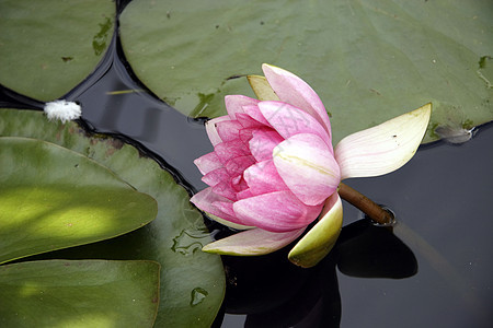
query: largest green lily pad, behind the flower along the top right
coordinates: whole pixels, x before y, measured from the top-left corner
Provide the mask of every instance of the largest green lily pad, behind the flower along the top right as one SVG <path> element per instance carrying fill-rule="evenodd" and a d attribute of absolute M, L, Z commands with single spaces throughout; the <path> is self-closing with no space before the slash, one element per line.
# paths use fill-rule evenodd
<path fill-rule="evenodd" d="M 431 141 L 493 119 L 492 16 L 490 0 L 135 0 L 121 33 L 139 79 L 186 115 L 223 115 L 226 94 L 253 95 L 234 78 L 267 62 L 319 93 L 335 141 L 432 102 Z"/>

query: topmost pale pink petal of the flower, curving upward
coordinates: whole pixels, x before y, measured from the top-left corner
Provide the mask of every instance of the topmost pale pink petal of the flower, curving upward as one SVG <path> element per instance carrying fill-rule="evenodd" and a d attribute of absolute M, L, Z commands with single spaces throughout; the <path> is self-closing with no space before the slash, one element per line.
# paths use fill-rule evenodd
<path fill-rule="evenodd" d="M 265 78 L 282 102 L 313 116 L 331 136 L 331 124 L 322 101 L 303 80 L 278 67 L 262 65 Z"/>

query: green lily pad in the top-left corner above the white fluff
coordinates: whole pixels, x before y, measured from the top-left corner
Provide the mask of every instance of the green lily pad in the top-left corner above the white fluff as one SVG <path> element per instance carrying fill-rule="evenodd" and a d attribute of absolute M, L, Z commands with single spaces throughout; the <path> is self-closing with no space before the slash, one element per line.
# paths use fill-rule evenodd
<path fill-rule="evenodd" d="M 64 96 L 100 62 L 114 23 L 112 0 L 0 1 L 0 83 L 43 102 Z"/>

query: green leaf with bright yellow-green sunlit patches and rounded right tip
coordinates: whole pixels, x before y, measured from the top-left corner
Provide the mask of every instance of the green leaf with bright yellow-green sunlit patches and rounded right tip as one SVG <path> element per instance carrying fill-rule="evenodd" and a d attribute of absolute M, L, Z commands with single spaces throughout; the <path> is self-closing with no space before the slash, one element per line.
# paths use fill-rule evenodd
<path fill-rule="evenodd" d="M 0 262 L 122 235 L 157 213 L 152 197 L 87 156 L 0 137 Z"/>

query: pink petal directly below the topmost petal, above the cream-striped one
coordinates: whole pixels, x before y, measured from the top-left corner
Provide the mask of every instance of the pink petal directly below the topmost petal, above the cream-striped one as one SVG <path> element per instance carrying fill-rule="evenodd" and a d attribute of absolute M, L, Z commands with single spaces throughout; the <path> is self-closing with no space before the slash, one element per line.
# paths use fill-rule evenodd
<path fill-rule="evenodd" d="M 332 141 L 325 129 L 309 114 L 283 102 L 261 102 L 259 108 L 270 125 L 284 139 L 298 133 L 319 136 L 332 151 Z"/>

